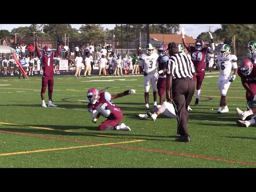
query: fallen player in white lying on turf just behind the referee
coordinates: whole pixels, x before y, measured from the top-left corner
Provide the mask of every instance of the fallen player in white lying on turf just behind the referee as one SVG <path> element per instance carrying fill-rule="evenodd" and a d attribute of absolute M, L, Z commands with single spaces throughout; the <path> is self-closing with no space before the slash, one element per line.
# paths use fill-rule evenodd
<path fill-rule="evenodd" d="M 150 112 L 147 112 L 146 114 L 135 114 L 136 117 L 138 117 L 140 120 L 146 120 L 148 116 L 152 118 L 152 120 L 156 120 L 156 117 L 160 114 L 164 114 L 165 116 L 169 118 L 176 118 L 175 109 L 173 107 L 173 104 L 170 104 L 168 102 L 163 102 L 162 105 L 158 105 L 156 108 L 152 109 Z"/>

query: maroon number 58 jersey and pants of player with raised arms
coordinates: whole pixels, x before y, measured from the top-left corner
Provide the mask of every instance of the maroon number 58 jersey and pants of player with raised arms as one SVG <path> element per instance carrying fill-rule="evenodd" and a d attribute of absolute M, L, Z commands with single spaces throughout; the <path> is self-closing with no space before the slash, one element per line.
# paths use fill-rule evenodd
<path fill-rule="evenodd" d="M 190 46 L 191 60 L 196 69 L 196 77 L 193 78 L 193 81 L 196 82 L 196 90 L 201 89 L 201 85 L 204 79 L 207 51 L 207 47 L 204 47 L 201 50 L 196 50 L 195 47 Z"/>

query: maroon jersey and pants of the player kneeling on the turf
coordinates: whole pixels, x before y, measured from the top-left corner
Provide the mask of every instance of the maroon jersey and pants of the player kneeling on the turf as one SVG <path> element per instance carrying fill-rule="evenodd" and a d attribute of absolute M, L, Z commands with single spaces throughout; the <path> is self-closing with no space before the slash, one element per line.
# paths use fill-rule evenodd
<path fill-rule="evenodd" d="M 110 101 L 111 95 L 108 92 L 101 92 L 100 99 L 95 104 L 88 104 L 88 111 L 92 112 L 95 110 L 97 106 L 101 106 L 101 108 L 110 110 L 110 116 L 107 117 L 107 120 L 102 122 L 99 126 L 99 130 L 104 130 L 106 126 L 118 126 L 123 118 L 123 113 Z"/>

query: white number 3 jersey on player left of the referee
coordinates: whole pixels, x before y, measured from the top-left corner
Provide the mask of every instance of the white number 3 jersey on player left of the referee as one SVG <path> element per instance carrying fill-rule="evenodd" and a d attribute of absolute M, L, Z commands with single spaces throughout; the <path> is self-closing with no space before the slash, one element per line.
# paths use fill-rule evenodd
<path fill-rule="evenodd" d="M 156 72 L 156 62 L 157 62 L 158 54 L 152 53 L 151 55 L 148 55 L 146 53 L 143 53 L 140 55 L 140 59 L 143 60 L 143 62 L 140 62 L 140 66 L 144 66 L 144 72 L 148 74 L 154 74 Z"/>

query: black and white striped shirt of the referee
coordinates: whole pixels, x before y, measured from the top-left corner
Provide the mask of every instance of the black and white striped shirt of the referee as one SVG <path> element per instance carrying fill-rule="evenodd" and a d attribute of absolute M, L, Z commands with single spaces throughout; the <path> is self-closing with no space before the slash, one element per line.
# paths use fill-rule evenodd
<path fill-rule="evenodd" d="M 192 60 L 186 53 L 176 53 L 170 57 L 167 66 L 167 74 L 172 74 L 172 78 L 193 78 L 192 73 L 195 73 L 195 68 Z"/>

